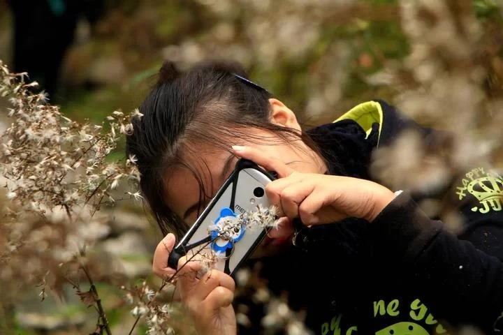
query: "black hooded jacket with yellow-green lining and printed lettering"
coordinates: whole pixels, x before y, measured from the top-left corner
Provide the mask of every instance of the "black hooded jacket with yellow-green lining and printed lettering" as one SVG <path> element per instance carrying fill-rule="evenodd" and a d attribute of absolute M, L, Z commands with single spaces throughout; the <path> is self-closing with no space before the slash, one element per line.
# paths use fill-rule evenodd
<path fill-rule="evenodd" d="M 430 144 L 441 137 L 382 101 L 359 105 L 310 135 L 330 174 L 370 179 L 372 151 L 410 128 Z M 404 190 L 372 223 L 347 219 L 303 229 L 298 247 L 264 260 L 261 275 L 273 292 L 288 294 L 294 310 L 307 311 L 314 334 L 453 334 L 460 325 L 503 331 L 502 190 L 503 179 L 484 167 L 435 194 Z M 415 200 L 427 196 L 458 202 L 465 218 L 458 236 L 418 207 Z M 248 312 L 253 327 L 240 334 L 265 333 L 258 327 L 262 306 L 255 307 Z"/>

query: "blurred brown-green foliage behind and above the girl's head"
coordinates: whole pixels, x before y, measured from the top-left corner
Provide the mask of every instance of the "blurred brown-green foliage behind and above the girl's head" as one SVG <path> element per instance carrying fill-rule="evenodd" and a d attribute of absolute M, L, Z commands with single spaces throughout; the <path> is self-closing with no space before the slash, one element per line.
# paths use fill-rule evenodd
<path fill-rule="evenodd" d="M 78 21 L 51 101 L 76 119 L 100 121 L 107 111 L 138 106 L 164 59 L 206 57 L 241 61 L 305 121 L 333 119 L 370 98 L 393 101 L 397 87 L 376 87 L 365 76 L 409 53 L 398 0 L 289 2 L 103 0 L 96 22 Z M 461 2 L 472 3 L 486 31 L 501 30 L 497 0 Z M 13 17 L 3 1 L 0 15 L 0 58 L 9 64 Z M 43 58 L 42 50 L 33 57 Z M 313 98 L 323 80 L 337 84 L 324 105 Z"/>

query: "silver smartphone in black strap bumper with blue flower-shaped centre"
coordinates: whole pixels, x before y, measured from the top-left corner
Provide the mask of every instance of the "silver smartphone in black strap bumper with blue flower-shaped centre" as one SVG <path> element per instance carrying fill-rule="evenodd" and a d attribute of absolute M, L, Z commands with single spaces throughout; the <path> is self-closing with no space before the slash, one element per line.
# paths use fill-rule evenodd
<path fill-rule="evenodd" d="M 208 228 L 223 222 L 221 219 L 233 220 L 245 211 L 255 211 L 258 204 L 268 208 L 270 204 L 265 193 L 257 197 L 254 189 L 265 188 L 274 179 L 273 172 L 266 172 L 255 163 L 240 159 L 231 176 L 170 253 L 169 267 L 176 269 L 178 260 L 183 255 L 190 257 L 203 248 L 213 248 L 219 253 L 214 268 L 233 276 L 261 243 L 267 230 L 242 226 L 239 231 L 233 232 L 231 240 L 223 240 L 217 239 L 217 230 Z"/>

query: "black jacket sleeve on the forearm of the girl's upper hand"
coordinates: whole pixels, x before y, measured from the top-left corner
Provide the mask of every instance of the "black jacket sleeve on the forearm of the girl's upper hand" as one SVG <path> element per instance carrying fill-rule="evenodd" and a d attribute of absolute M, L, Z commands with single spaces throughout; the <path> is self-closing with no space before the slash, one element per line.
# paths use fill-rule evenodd
<path fill-rule="evenodd" d="M 407 287 L 451 325 L 502 329 L 503 263 L 432 221 L 402 193 L 370 224 L 374 267 L 406 274 Z M 410 280 L 409 280 L 410 278 Z"/>

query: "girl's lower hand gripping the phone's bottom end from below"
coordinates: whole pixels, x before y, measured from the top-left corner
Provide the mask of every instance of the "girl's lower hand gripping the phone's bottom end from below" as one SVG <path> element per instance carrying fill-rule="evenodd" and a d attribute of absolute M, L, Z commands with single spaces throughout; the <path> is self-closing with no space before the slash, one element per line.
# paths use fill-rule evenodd
<path fill-rule="evenodd" d="M 157 245 L 152 268 L 161 278 L 175 274 L 175 269 L 166 267 L 174 245 L 173 234 L 166 235 Z M 213 269 L 198 279 L 196 274 L 201 269 L 201 263 L 195 258 L 187 262 L 187 256 L 180 258 L 178 269 L 176 299 L 182 301 L 191 314 L 198 334 L 235 335 L 236 319 L 231 305 L 235 290 L 233 278 Z"/>

